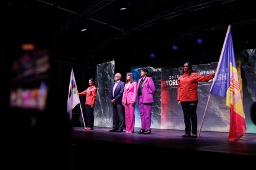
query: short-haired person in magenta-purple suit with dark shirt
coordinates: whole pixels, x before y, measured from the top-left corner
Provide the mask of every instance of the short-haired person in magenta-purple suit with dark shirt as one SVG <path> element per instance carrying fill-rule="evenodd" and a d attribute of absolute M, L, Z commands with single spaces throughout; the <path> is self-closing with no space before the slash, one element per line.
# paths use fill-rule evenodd
<path fill-rule="evenodd" d="M 142 121 L 142 129 L 139 134 L 151 134 L 151 105 L 154 102 L 156 87 L 152 78 L 148 77 L 147 68 L 140 70 L 138 85 L 138 103 L 140 110 L 140 119 Z"/>

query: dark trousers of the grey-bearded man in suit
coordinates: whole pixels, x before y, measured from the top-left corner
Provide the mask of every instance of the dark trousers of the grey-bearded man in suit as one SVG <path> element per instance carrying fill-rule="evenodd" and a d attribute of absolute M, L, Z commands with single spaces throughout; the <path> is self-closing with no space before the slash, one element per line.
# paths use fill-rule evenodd
<path fill-rule="evenodd" d="M 113 129 L 124 128 L 124 113 L 122 105 L 113 105 Z"/>

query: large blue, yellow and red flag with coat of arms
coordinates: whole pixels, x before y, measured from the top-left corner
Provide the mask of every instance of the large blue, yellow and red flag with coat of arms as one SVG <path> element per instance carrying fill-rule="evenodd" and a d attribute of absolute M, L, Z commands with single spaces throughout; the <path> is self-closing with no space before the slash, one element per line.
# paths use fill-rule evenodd
<path fill-rule="evenodd" d="M 237 141 L 245 135 L 246 124 L 230 28 L 229 25 L 210 93 L 226 97 L 230 108 L 228 140 Z"/>

